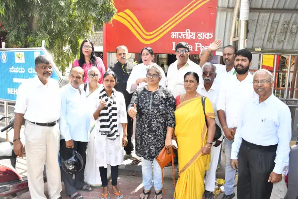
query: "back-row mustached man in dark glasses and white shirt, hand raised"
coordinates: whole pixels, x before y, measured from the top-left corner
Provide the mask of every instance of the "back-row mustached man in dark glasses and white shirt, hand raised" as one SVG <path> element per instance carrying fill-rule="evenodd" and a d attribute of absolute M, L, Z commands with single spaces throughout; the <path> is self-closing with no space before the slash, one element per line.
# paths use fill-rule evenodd
<path fill-rule="evenodd" d="M 220 48 L 222 41 L 216 40 L 208 47 L 208 51 L 212 52 Z M 167 88 L 172 92 L 176 98 L 179 95 L 185 94 L 184 89 L 184 75 L 187 72 L 195 72 L 199 76 L 200 84 L 203 84 L 202 69 L 199 65 L 189 59 L 190 51 L 189 45 L 185 42 L 180 42 L 175 47 L 177 60 L 172 63 L 167 71 L 166 82 Z M 208 59 L 208 54 L 203 56 L 204 63 Z"/>

